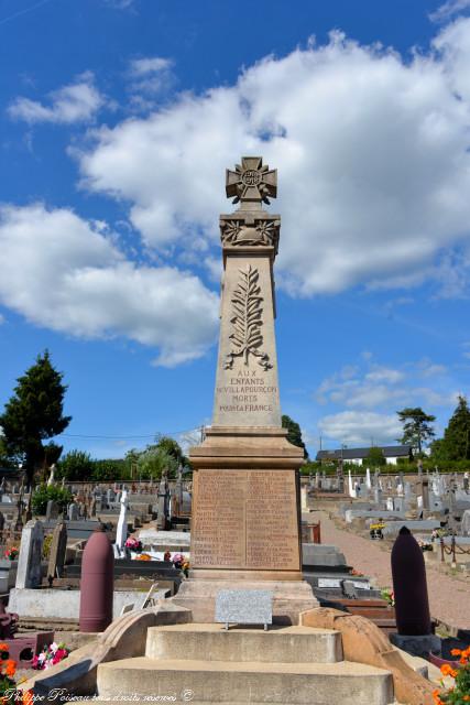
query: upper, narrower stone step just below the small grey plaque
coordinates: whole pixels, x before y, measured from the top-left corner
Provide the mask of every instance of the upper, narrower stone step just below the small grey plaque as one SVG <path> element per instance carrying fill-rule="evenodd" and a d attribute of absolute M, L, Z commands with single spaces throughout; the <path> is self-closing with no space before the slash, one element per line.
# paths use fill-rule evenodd
<path fill-rule="evenodd" d="M 341 634 L 311 627 L 229 629 L 222 625 L 174 625 L 147 630 L 151 659 L 270 663 L 335 663 L 342 660 Z"/>

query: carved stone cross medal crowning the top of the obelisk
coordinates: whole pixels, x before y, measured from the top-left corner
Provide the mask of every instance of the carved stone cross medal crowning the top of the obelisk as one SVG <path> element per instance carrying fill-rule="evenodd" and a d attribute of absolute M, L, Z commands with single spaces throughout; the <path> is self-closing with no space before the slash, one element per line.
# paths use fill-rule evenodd
<path fill-rule="evenodd" d="M 241 209 L 260 208 L 277 195 L 277 170 L 263 165 L 261 156 L 242 156 L 234 172 L 226 171 L 226 194 L 232 203 L 241 203 Z"/>

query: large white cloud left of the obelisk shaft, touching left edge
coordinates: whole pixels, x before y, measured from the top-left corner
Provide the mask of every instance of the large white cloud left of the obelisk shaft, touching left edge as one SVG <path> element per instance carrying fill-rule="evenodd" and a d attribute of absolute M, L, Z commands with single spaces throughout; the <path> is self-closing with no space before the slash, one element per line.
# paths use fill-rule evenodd
<path fill-rule="evenodd" d="M 3 206 L 0 301 L 54 330 L 159 347 L 159 365 L 204 355 L 217 330 L 216 294 L 175 268 L 136 267 L 105 230 L 67 209 Z"/>

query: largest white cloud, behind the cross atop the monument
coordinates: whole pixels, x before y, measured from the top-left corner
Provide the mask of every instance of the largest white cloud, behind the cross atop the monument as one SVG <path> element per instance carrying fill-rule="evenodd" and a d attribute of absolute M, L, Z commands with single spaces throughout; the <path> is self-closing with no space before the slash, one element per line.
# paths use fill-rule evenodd
<path fill-rule="evenodd" d="M 463 19 L 411 62 L 336 32 L 234 86 L 96 130 L 76 153 L 83 183 L 129 199 L 154 248 L 190 247 L 195 232 L 215 243 L 225 169 L 262 154 L 280 174 L 282 286 L 416 285 L 470 236 L 468 47 Z"/>

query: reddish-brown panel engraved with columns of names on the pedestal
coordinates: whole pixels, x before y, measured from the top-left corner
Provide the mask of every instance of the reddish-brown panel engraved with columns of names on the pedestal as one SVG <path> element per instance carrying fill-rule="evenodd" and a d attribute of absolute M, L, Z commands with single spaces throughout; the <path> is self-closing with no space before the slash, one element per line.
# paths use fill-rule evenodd
<path fill-rule="evenodd" d="M 192 564 L 211 568 L 299 570 L 295 474 L 196 473 Z"/>

